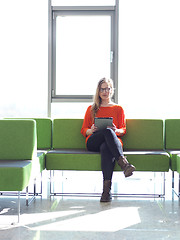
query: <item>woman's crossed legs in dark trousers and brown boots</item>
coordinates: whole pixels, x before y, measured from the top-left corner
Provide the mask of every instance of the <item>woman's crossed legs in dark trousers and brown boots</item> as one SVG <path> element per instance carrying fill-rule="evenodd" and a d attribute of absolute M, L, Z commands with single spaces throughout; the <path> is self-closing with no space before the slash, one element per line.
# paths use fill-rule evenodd
<path fill-rule="evenodd" d="M 115 132 L 110 129 L 104 129 L 94 133 L 87 141 L 87 149 L 101 153 L 101 168 L 103 173 L 103 193 L 101 202 L 110 202 L 111 197 L 111 179 L 115 166 L 115 159 L 124 171 L 125 177 L 132 175 L 135 167 L 128 163 L 123 155 L 122 145 Z"/>

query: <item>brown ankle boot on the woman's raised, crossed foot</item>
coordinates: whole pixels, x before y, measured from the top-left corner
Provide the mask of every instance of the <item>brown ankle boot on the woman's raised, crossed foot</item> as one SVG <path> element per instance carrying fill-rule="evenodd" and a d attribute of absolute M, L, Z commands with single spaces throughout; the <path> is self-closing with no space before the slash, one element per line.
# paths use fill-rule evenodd
<path fill-rule="evenodd" d="M 117 162 L 121 169 L 124 171 L 125 177 L 130 177 L 136 170 L 136 168 L 128 162 L 125 156 L 120 156 Z"/>

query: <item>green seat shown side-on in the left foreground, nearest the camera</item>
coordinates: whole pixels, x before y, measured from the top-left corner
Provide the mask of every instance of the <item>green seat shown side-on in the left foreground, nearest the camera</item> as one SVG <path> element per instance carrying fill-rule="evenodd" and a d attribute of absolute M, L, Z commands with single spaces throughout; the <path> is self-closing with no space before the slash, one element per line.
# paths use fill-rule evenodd
<path fill-rule="evenodd" d="M 36 122 L 33 120 L 0 120 L 0 191 L 20 192 L 29 183 L 36 165 Z M 37 166 L 37 165 L 36 165 Z"/>

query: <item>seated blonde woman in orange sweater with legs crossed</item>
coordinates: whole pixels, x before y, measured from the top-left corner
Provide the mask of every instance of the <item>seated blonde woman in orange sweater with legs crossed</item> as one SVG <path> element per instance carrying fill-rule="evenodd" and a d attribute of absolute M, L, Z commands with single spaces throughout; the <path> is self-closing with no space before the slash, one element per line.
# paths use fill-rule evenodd
<path fill-rule="evenodd" d="M 126 133 L 124 110 L 111 101 L 113 96 L 113 82 L 102 78 L 97 86 L 94 103 L 87 108 L 81 133 L 86 137 L 89 151 L 100 152 L 103 173 L 103 193 L 101 202 L 111 201 L 111 180 L 115 161 L 124 171 L 125 177 L 133 174 L 135 167 L 131 165 L 123 154 L 121 137 Z M 112 117 L 113 126 L 98 130 L 94 125 L 95 117 Z"/>

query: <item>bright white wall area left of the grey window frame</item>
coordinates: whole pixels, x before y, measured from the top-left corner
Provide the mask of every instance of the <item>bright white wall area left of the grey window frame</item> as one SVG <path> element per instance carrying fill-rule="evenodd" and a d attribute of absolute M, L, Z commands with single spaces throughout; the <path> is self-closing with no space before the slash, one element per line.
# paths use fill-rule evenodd
<path fill-rule="evenodd" d="M 47 116 L 48 1 L 0 2 L 0 117 Z"/>

